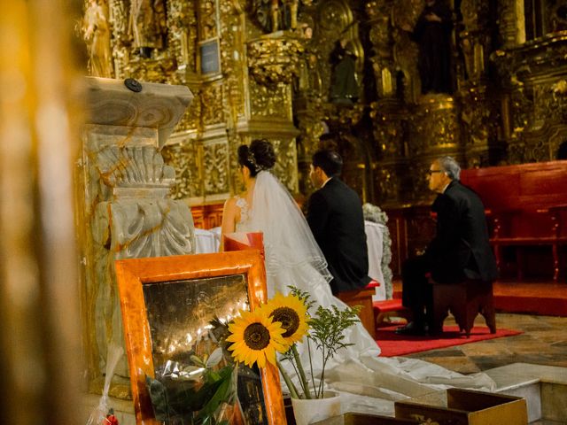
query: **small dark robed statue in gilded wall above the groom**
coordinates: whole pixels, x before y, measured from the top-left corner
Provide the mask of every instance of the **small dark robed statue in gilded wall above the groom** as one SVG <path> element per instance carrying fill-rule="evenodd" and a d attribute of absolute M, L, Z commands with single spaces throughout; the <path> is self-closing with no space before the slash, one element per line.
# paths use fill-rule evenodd
<path fill-rule="evenodd" d="M 353 104 L 358 100 L 356 52 L 353 42 L 341 38 L 330 52 L 330 96 L 333 104 Z"/>

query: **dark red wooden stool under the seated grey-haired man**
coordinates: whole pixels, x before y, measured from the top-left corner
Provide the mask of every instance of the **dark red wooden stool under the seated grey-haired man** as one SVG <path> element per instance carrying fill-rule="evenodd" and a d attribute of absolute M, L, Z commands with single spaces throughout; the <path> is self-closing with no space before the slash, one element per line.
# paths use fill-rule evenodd
<path fill-rule="evenodd" d="M 496 333 L 496 315 L 493 301 L 493 282 L 466 280 L 461 283 L 440 284 L 431 282 L 433 289 L 433 326 L 443 329 L 448 312 L 454 315 L 459 329 L 470 336 L 477 314 L 485 317 L 491 334 Z"/>

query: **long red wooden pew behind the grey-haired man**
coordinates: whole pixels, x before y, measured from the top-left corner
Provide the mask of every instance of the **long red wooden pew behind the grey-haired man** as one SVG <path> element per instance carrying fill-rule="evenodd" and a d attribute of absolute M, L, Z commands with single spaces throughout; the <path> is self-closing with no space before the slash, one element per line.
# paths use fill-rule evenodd
<path fill-rule="evenodd" d="M 556 281 L 560 247 L 567 244 L 567 161 L 462 170 L 461 182 L 483 200 L 499 267 L 502 247 L 515 246 L 517 278 L 522 280 L 524 248 L 548 245 Z"/>

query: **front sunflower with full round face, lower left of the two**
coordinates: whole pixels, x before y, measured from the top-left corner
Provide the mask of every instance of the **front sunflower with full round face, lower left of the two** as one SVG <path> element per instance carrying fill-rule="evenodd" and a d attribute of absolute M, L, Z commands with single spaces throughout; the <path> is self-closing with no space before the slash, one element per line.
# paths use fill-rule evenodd
<path fill-rule="evenodd" d="M 254 312 L 241 312 L 234 322 L 229 324 L 230 336 L 227 338 L 232 357 L 252 367 L 266 366 L 266 360 L 276 364 L 276 351 L 285 351 L 286 344 L 282 334 L 282 324 L 272 321 L 262 309 Z"/>

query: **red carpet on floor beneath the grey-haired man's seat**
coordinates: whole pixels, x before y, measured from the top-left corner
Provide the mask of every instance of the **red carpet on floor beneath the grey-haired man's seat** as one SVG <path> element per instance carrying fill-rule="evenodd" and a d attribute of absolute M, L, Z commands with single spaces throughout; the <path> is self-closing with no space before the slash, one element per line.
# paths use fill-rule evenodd
<path fill-rule="evenodd" d="M 426 352 L 437 348 L 446 348 L 454 345 L 476 343 L 486 339 L 500 338 L 502 336 L 519 335 L 522 332 L 509 329 L 498 329 L 491 334 L 488 328 L 472 328 L 470 337 L 459 332 L 457 326 L 446 326 L 440 336 L 401 336 L 394 333 L 399 325 L 377 328 L 376 339 L 382 349 L 382 356 L 403 356 L 412 352 Z"/>

